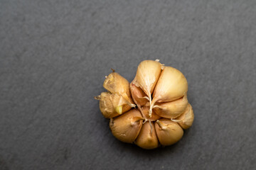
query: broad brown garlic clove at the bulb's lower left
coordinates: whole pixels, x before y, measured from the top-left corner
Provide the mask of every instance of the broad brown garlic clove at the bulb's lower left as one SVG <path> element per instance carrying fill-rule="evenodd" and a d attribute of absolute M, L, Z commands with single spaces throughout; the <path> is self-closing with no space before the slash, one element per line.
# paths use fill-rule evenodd
<path fill-rule="evenodd" d="M 122 142 L 132 143 L 142 128 L 142 114 L 136 109 L 110 120 L 110 129 L 114 137 Z"/>

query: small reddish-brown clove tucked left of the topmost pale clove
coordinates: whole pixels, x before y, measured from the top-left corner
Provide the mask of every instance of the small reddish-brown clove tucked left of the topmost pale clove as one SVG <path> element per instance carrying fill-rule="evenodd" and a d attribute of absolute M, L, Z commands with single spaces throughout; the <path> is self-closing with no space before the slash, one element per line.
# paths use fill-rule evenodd
<path fill-rule="evenodd" d="M 149 102 L 149 100 L 145 98 L 146 94 L 144 93 L 144 91 L 142 91 L 142 89 L 136 86 L 134 84 L 134 81 L 132 81 L 132 83 L 130 84 L 129 89 L 132 94 L 132 99 L 134 103 L 137 104 L 137 106 L 144 106 L 146 105 L 146 103 Z"/>

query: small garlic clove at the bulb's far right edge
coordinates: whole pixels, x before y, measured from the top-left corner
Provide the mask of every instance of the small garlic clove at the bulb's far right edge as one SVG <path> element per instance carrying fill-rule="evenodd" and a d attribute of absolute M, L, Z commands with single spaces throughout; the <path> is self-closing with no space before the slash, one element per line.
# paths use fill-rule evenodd
<path fill-rule="evenodd" d="M 194 114 L 193 114 L 193 108 L 191 104 L 188 103 L 188 107 L 186 108 L 186 111 L 180 115 L 176 120 L 178 120 L 178 124 L 181 125 L 181 128 L 188 129 L 193 124 Z"/>

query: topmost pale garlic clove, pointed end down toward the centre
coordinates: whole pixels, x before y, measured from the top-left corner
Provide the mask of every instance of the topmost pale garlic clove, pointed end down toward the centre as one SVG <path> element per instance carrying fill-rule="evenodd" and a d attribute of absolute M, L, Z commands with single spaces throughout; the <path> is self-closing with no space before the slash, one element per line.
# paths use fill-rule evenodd
<path fill-rule="evenodd" d="M 139 86 L 151 98 L 156 82 L 161 74 L 161 63 L 153 60 L 144 60 L 138 66 L 134 84 Z"/>

